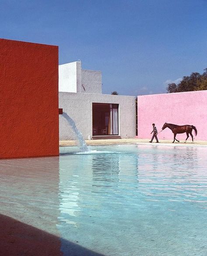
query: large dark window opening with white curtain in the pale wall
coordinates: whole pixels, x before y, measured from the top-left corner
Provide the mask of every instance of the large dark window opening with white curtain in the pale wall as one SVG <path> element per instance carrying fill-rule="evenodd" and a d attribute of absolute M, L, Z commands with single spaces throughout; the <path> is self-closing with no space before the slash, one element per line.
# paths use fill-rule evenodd
<path fill-rule="evenodd" d="M 118 104 L 92 103 L 93 136 L 118 135 Z"/>

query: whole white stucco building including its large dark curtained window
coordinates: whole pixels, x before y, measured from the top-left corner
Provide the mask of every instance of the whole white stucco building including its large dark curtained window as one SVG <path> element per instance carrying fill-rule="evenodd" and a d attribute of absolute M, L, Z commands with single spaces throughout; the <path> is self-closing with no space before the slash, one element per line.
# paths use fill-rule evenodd
<path fill-rule="evenodd" d="M 84 139 L 135 137 L 135 99 L 102 94 L 101 71 L 82 70 L 81 62 L 59 65 L 59 108 L 73 119 Z M 76 139 L 61 115 L 59 139 Z"/>

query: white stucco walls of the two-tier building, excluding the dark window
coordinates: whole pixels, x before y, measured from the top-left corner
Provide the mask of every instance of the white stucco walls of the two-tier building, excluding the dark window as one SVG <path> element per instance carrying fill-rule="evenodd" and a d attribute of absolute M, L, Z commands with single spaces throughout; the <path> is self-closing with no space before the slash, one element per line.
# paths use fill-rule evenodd
<path fill-rule="evenodd" d="M 80 61 L 59 65 L 59 108 L 73 119 L 86 140 L 93 135 L 93 103 L 118 104 L 118 136 L 135 137 L 135 98 L 135 96 L 103 95 L 101 71 L 82 70 Z M 100 116 L 99 112 L 96 115 Z M 117 134 L 117 130 L 114 134 Z M 72 128 L 61 115 L 59 139 L 76 139 Z"/>

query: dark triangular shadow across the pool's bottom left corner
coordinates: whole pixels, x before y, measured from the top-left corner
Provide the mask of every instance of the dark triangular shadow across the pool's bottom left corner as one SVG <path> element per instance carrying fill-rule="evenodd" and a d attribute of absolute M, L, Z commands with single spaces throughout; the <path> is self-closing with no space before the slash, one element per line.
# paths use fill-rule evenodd
<path fill-rule="evenodd" d="M 0 256 L 103 256 L 0 214 Z M 61 252 L 61 243 L 68 252 Z"/>

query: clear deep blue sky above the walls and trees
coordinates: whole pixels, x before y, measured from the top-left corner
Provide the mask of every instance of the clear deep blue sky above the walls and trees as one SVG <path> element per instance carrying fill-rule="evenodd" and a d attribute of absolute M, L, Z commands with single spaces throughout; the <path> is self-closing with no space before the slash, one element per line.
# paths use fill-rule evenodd
<path fill-rule="evenodd" d="M 0 38 L 58 45 L 103 93 L 165 93 L 207 68 L 207 0 L 1 0 Z"/>

